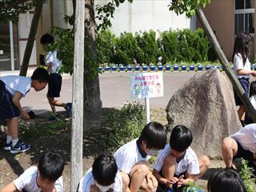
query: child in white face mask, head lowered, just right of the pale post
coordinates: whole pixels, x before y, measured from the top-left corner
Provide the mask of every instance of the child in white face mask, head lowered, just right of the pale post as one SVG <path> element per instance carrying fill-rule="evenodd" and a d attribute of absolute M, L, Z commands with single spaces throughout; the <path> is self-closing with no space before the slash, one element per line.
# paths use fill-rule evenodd
<path fill-rule="evenodd" d="M 81 179 L 78 192 L 122 191 L 122 176 L 114 157 L 101 154 Z"/>

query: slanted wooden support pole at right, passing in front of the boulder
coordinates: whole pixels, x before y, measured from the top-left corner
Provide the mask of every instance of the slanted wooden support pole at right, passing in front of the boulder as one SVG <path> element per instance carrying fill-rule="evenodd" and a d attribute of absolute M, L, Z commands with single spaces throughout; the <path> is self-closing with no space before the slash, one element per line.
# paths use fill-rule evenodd
<path fill-rule="evenodd" d="M 202 25 L 202 28 L 206 31 L 206 34 L 210 38 L 210 42 L 214 48 L 215 53 L 218 55 L 218 59 L 222 62 L 223 70 L 225 70 L 228 78 L 230 78 L 230 82 L 234 86 L 234 89 L 237 91 L 239 98 L 242 100 L 243 105 L 246 107 L 246 110 L 250 114 L 250 118 L 252 118 L 253 122 L 256 122 L 256 111 L 254 110 L 254 106 L 251 105 L 250 100 L 247 98 L 240 82 L 238 82 L 238 78 L 234 75 L 234 71 L 231 69 L 230 63 L 227 61 L 221 46 L 219 46 L 218 40 L 215 37 L 213 30 L 210 28 L 210 25 L 202 10 L 198 10 L 197 17 Z"/>

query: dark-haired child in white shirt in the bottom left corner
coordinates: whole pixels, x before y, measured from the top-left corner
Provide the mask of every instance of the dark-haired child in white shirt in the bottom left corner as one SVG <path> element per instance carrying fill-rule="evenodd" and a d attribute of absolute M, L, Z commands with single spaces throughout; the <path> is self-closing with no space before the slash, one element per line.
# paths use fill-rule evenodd
<path fill-rule="evenodd" d="M 38 166 L 30 166 L 1 192 L 62 192 L 64 161 L 59 154 L 42 154 Z"/>

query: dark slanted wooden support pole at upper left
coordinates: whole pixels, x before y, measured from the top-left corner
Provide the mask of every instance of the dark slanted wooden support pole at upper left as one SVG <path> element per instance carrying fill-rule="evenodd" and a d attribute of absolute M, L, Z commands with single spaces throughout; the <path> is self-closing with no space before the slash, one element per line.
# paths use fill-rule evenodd
<path fill-rule="evenodd" d="M 26 76 L 26 72 L 29 67 L 30 57 L 33 50 L 33 46 L 34 46 L 34 38 L 38 30 L 38 22 L 40 19 L 40 15 L 42 14 L 42 5 L 43 5 L 43 1 L 38 1 L 38 4 L 34 8 L 34 16 L 30 26 L 30 34 L 26 42 L 26 49 L 25 49 L 24 57 L 22 61 L 22 68 L 19 73 L 19 75 L 21 76 Z"/>

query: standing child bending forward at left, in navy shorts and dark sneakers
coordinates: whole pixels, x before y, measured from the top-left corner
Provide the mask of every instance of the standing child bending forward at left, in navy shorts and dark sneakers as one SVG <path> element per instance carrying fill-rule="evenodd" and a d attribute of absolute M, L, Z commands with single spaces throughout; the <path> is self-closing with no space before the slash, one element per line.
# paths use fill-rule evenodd
<path fill-rule="evenodd" d="M 25 97 L 30 88 L 43 90 L 49 82 L 47 70 L 37 68 L 32 77 L 9 75 L 0 78 L 0 120 L 7 120 L 7 137 L 4 150 L 12 154 L 25 152 L 30 145 L 18 140 L 18 118 L 29 119 L 29 114 L 22 110 L 20 100 Z"/>

